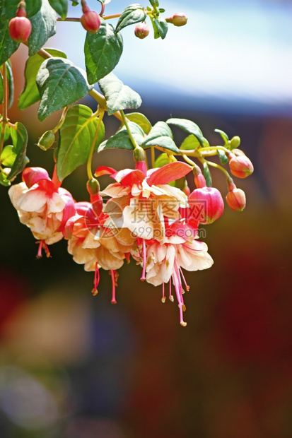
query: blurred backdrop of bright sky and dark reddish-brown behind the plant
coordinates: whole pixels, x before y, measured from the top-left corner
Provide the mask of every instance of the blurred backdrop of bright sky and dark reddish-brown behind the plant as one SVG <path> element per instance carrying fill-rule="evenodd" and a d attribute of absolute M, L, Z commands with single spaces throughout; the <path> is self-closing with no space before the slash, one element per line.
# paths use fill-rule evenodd
<path fill-rule="evenodd" d="M 97 1 L 88 4 L 99 11 Z M 112 0 L 105 11 L 128 4 Z M 0 187 L 1 438 L 292 436 L 292 1 L 160 6 L 166 16 L 186 13 L 187 25 L 170 26 L 165 40 L 138 40 L 133 26 L 122 30 L 115 73 L 140 93 L 139 110 L 152 124 L 192 119 L 211 144 L 220 143 L 214 129 L 240 136 L 255 165 L 252 176 L 235 182 L 247 207 L 235 213 L 226 206 L 205 227 L 214 266 L 186 273 L 184 329 L 177 305 L 163 305 L 160 288 L 141 283 L 133 262 L 119 272 L 112 306 L 108 273 L 93 297 L 93 273 L 74 264 L 66 242 L 37 260 L 30 230 Z M 69 16 L 80 15 L 80 6 L 71 8 Z M 78 23 L 57 26 L 47 47 L 84 67 L 86 32 Z M 25 47 L 13 55 L 10 118 L 28 129 L 30 165 L 52 172 L 52 151 L 35 144 L 59 114 L 40 124 L 37 105 L 17 109 L 26 57 Z M 117 122 L 105 124 L 110 136 Z M 180 143 L 184 136 L 173 131 Z M 132 167 L 132 154 L 103 152 L 99 164 Z M 224 197 L 223 175 L 212 176 Z M 81 201 L 88 199 L 85 184 L 80 167 L 64 187 Z"/>

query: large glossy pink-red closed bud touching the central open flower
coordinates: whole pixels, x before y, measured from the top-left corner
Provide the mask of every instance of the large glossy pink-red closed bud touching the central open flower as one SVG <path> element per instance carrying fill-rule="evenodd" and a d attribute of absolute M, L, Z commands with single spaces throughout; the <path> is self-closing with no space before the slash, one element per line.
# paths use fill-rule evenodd
<path fill-rule="evenodd" d="M 224 210 L 221 193 L 214 187 L 195 189 L 188 200 L 190 218 L 205 225 L 220 218 Z"/>

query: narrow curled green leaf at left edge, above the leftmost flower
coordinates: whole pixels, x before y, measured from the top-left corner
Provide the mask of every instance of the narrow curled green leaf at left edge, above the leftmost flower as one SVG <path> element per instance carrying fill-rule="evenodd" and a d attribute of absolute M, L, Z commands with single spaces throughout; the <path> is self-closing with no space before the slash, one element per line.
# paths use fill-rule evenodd
<path fill-rule="evenodd" d="M 18 173 L 21 173 L 29 161 L 26 156 L 26 146 L 28 145 L 28 133 L 22 123 L 16 122 L 15 127 L 11 128 L 11 138 L 14 150 L 16 150 L 16 160 L 13 163 L 11 172 L 7 179 L 11 180 Z"/>

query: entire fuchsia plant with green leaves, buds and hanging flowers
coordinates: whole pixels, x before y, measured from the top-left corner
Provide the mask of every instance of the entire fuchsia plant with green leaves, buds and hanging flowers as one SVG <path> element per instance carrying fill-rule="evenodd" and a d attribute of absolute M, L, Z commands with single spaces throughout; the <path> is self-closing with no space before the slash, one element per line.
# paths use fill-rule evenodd
<path fill-rule="evenodd" d="M 141 40 L 152 28 L 154 39 L 164 40 L 171 25 L 187 24 L 187 16 L 177 12 L 165 18 L 158 0 L 147 0 L 148 6 L 130 4 L 110 15 L 105 14 L 110 0 L 99 1 L 100 11 L 92 11 L 86 0 L 72 1 L 72 6 L 79 8 L 79 18 L 67 17 L 66 0 L 12 3 L 4 0 L 0 4 L 1 25 L 8 30 L 0 41 L 0 184 L 9 187 L 22 173 L 22 182 L 10 187 L 8 194 L 21 223 L 37 239 L 37 256 L 42 256 L 43 250 L 49 256 L 49 245 L 66 239 L 74 261 L 94 273 L 93 295 L 98 292 L 100 269 L 109 271 L 112 303 L 116 302 L 117 271 L 125 261 L 134 259 L 141 266 L 141 280 L 161 286 L 163 302 L 166 295 L 171 301 L 175 296 L 180 324 L 185 326 L 183 295 L 189 286 L 183 270 L 198 271 L 213 264 L 206 243 L 198 239 L 198 228 L 220 218 L 224 209 L 221 193 L 212 187 L 210 167 L 225 174 L 228 206 L 243 211 L 245 193 L 223 166 L 228 164 L 231 174 L 245 178 L 253 171 L 252 163 L 238 149 L 238 136 L 229 139 L 216 130 L 223 145 L 210 146 L 191 120 L 171 118 L 152 126 L 140 112 L 125 114 L 124 110 L 141 106 L 141 97 L 112 71 L 122 55 L 124 28 L 134 25 L 134 35 Z M 110 21 L 115 18 L 114 26 Z M 66 20 L 79 22 L 79 30 L 86 32 L 86 71 L 69 61 L 64 52 L 43 48 L 57 31 L 56 21 L 62 26 Z M 40 23 L 45 23 L 41 37 Z M 29 56 L 18 108 L 39 102 L 40 122 L 62 110 L 57 126 L 45 131 L 37 143 L 42 150 L 54 148 L 52 179 L 45 169 L 25 168 L 28 132 L 8 117 L 13 102 L 10 57 L 21 43 L 28 46 Z M 95 84 L 100 91 L 95 90 Z M 95 111 L 78 103 L 83 97 L 93 99 Z M 120 122 L 117 132 L 107 139 L 106 113 Z M 187 133 L 179 146 L 172 125 Z M 132 150 L 134 168 L 99 166 L 93 174 L 93 154 L 117 148 Z M 88 200 L 76 201 L 62 182 L 85 163 Z M 100 191 L 98 179 L 105 174 L 114 182 Z"/>

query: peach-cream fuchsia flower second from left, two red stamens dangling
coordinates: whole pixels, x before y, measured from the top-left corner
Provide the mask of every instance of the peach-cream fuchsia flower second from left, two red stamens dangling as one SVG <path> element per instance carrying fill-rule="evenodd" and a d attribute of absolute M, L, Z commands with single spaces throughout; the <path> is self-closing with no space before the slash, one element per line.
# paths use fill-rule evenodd
<path fill-rule="evenodd" d="M 66 223 L 64 235 L 69 239 L 68 251 L 78 264 L 84 264 L 85 271 L 95 271 L 93 293 L 98 293 L 99 268 L 110 271 L 112 276 L 112 302 L 115 302 L 117 272 L 127 254 L 130 253 L 134 238 L 124 228 L 115 232 L 103 226 L 107 215 L 102 212 L 103 202 L 78 202 L 76 215 Z M 129 258 L 129 257 L 128 257 Z"/>

